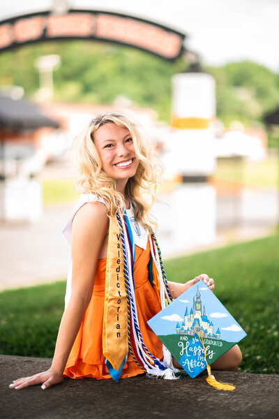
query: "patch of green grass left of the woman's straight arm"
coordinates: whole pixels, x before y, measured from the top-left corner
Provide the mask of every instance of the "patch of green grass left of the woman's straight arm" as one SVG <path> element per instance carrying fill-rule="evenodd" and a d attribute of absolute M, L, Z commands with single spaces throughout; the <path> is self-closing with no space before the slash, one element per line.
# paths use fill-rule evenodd
<path fill-rule="evenodd" d="M 0 293 L 0 353 L 51 358 L 66 282 Z"/>

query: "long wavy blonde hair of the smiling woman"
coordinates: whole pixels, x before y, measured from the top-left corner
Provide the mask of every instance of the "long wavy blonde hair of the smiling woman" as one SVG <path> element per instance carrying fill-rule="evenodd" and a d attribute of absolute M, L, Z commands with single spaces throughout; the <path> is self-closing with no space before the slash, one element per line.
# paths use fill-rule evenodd
<path fill-rule="evenodd" d="M 77 168 L 76 189 L 103 198 L 108 207 L 108 216 L 115 216 L 125 207 L 124 196 L 116 191 L 116 180 L 102 169 L 100 157 L 94 145 L 94 133 L 105 124 L 113 123 L 128 128 L 133 138 L 135 156 L 139 166 L 135 176 L 130 177 L 125 188 L 125 198 L 134 206 L 135 218 L 148 230 L 156 227 L 150 214 L 156 200 L 155 194 L 163 173 L 162 165 L 153 153 L 153 147 L 140 124 L 120 112 L 105 112 L 89 122 L 73 142 L 73 161 Z"/>

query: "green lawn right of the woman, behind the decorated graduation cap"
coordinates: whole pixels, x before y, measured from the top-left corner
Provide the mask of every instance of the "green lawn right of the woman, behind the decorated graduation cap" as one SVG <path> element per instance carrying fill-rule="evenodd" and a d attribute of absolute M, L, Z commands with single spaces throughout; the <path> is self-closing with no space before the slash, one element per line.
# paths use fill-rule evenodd
<path fill-rule="evenodd" d="M 216 295 L 248 336 L 240 342 L 241 370 L 279 373 L 279 235 L 168 260 L 170 281 L 208 273 Z"/>

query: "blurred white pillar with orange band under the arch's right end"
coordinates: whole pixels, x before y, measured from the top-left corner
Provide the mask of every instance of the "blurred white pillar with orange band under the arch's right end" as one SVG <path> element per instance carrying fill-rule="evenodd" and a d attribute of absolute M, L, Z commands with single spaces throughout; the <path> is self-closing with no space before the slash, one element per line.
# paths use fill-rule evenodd
<path fill-rule="evenodd" d="M 216 191 L 209 183 L 216 166 L 215 80 L 192 55 L 186 71 L 172 77 L 174 131 L 169 145 L 183 181 L 172 195 L 173 237 L 183 242 L 184 249 L 211 243 L 216 237 Z"/>

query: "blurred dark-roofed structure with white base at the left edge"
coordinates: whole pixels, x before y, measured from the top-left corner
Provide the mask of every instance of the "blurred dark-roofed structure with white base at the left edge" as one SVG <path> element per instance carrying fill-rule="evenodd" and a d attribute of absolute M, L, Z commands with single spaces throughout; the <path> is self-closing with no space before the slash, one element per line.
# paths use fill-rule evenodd
<path fill-rule="evenodd" d="M 30 221 L 42 212 L 36 175 L 47 159 L 41 139 L 59 128 L 36 105 L 11 94 L 0 95 L 1 221 Z"/>

